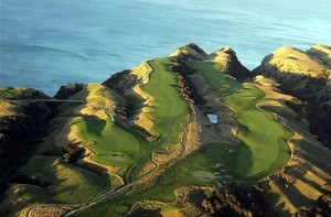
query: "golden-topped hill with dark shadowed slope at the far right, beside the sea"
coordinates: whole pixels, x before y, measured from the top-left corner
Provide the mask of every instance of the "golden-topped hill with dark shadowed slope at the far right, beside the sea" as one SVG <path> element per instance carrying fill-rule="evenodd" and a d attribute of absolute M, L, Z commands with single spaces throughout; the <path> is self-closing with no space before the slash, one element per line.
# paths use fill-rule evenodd
<path fill-rule="evenodd" d="M 307 52 L 282 46 L 254 69 L 255 75 L 275 78 L 280 89 L 307 101 L 311 131 L 331 145 L 331 47 L 316 45 Z"/>

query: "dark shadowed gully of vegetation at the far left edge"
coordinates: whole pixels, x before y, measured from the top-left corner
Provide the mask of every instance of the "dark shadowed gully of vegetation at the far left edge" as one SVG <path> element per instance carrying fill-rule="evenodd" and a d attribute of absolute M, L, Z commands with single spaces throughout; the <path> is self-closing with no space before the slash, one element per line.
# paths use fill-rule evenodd
<path fill-rule="evenodd" d="M 10 174 L 21 165 L 33 145 L 47 132 L 56 109 L 44 102 L 24 102 L 22 112 L 0 119 L 0 192 L 7 188 Z"/>

